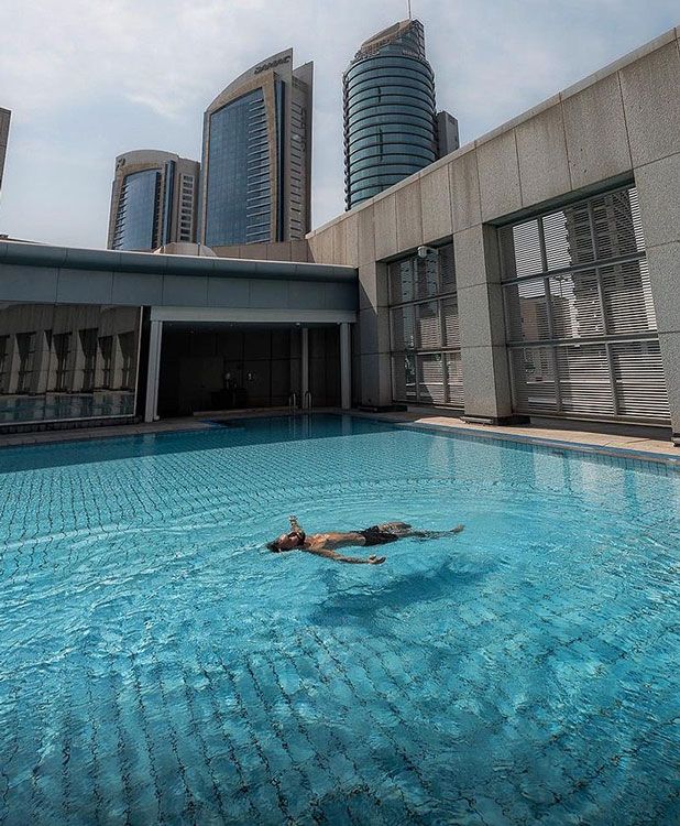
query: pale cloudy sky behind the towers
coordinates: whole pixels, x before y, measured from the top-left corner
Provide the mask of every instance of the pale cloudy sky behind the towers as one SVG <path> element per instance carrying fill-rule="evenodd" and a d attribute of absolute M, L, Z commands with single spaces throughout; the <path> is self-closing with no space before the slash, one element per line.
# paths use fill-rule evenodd
<path fill-rule="evenodd" d="M 412 0 L 461 143 L 680 24 L 677 0 Z M 200 159 L 202 112 L 287 47 L 315 62 L 312 227 L 343 206 L 342 72 L 407 0 L 0 0 L 0 233 L 105 247 L 116 155 Z"/>

